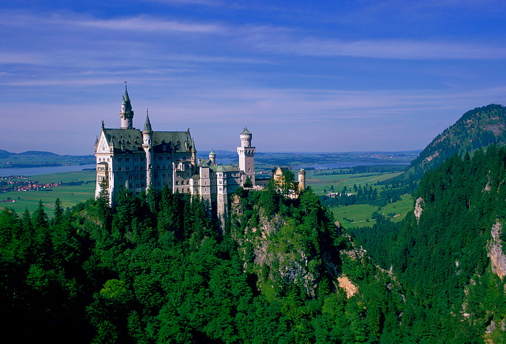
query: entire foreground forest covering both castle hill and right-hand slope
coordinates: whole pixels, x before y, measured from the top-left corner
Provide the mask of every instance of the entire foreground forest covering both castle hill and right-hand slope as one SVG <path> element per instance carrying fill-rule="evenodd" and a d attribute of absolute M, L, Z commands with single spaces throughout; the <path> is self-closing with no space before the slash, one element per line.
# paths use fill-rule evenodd
<path fill-rule="evenodd" d="M 67 210 L 56 200 L 51 219 L 41 202 L 7 208 L 3 339 L 501 342 L 505 180 L 506 148 L 453 156 L 426 173 L 402 222 L 377 214 L 352 231 L 367 251 L 310 189 L 290 198 L 274 182 L 238 189 L 224 226 L 168 188 L 123 190 L 114 212 L 105 192 Z"/>

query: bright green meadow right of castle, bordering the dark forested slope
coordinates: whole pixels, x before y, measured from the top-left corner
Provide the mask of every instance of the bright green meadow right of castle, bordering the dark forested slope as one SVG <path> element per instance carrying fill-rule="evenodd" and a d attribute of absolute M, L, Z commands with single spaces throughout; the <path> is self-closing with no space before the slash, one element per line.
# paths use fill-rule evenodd
<path fill-rule="evenodd" d="M 334 214 L 334 218 L 344 228 L 372 226 L 376 223 L 371 219 L 373 212 L 382 214 L 384 217 L 390 218 L 393 222 L 398 222 L 406 217 L 406 214 L 413 209 L 413 198 L 410 195 L 401 196 L 401 200 L 387 204 L 385 207 L 373 207 L 368 204 L 354 204 L 346 207 L 332 207 L 330 210 Z M 394 214 L 393 217 L 388 214 Z M 344 218 L 353 220 L 348 222 Z M 369 219 L 369 221 L 367 221 Z"/>

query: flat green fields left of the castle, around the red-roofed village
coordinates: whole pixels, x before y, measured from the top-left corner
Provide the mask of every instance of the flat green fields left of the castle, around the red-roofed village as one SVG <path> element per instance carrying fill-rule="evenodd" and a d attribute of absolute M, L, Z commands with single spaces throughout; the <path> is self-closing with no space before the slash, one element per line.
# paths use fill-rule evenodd
<path fill-rule="evenodd" d="M 80 180 L 95 181 L 96 172 L 76 171 L 40 174 L 33 176 L 31 179 L 38 180 L 39 183 L 57 183 L 60 181 L 66 183 Z M 87 201 L 95 195 L 95 182 L 75 186 L 63 185 L 51 189 L 52 191 L 10 191 L 0 193 L 0 200 L 10 197 L 15 201 L 14 203 L 0 203 L 0 209 L 4 209 L 5 207 L 13 208 L 16 213 L 21 214 L 27 208 L 32 213 L 37 208 L 39 200 L 42 200 L 46 213 L 51 217 L 53 216 L 56 198 L 60 199 L 63 208 L 72 207 L 79 202 Z"/>

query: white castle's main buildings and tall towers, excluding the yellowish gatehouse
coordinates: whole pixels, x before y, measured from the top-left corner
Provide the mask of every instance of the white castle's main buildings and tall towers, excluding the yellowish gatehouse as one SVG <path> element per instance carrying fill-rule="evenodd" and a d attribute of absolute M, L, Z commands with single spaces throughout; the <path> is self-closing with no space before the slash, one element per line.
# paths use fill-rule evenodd
<path fill-rule="evenodd" d="M 255 186 L 255 147 L 252 134 L 244 128 L 237 147 L 239 166 L 218 165 L 214 151 L 209 159 L 196 160 L 195 143 L 187 131 L 153 131 L 146 113 L 144 130 L 133 127 L 134 112 L 125 86 L 121 111 L 121 127 L 105 128 L 95 142 L 97 186 L 95 197 L 106 180 L 109 201 L 115 205 L 120 188 L 134 194 L 145 192 L 152 185 L 160 190 L 165 185 L 176 193 L 198 194 L 206 201 L 209 214 L 223 221 L 228 208 L 228 195 L 243 186 L 249 177 Z"/>

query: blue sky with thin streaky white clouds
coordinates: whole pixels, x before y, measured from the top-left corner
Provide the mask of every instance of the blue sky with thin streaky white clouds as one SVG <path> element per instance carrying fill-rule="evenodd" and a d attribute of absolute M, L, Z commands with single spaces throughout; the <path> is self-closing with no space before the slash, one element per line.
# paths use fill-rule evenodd
<path fill-rule="evenodd" d="M 506 105 L 502 1 L 0 2 L 0 149 L 93 154 L 124 80 L 198 151 L 423 149 Z"/>

